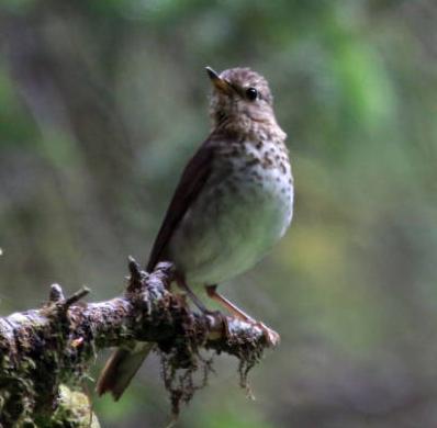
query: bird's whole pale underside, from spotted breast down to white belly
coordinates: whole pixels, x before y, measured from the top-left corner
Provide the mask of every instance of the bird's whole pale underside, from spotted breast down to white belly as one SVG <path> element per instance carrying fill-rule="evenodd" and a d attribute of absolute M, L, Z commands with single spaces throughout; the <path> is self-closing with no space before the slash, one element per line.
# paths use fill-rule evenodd
<path fill-rule="evenodd" d="M 292 218 L 285 146 L 262 139 L 217 144 L 212 173 L 171 243 L 177 266 L 193 283 L 218 283 L 246 271 Z"/>

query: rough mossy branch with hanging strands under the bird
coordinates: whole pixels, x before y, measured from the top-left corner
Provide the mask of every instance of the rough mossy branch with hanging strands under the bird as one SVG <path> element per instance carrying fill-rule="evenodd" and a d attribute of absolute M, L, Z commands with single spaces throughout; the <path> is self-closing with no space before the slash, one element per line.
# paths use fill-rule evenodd
<path fill-rule="evenodd" d="M 41 426 L 38 420 L 55 426 L 60 385 L 80 385 L 99 350 L 136 340 L 157 343 L 173 414 L 199 387 L 192 374 L 211 370 L 202 348 L 237 357 L 245 385 L 269 345 L 262 329 L 218 312 L 191 311 L 184 295 L 170 291 L 168 262 L 150 274 L 133 259 L 128 268 L 126 291 L 113 300 L 83 304 L 88 289 L 65 297 L 54 284 L 43 307 L 0 318 L 0 426 Z"/>

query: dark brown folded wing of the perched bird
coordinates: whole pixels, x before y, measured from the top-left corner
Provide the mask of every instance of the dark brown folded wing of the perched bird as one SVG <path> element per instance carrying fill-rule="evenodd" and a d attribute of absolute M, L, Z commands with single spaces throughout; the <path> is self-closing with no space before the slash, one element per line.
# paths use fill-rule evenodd
<path fill-rule="evenodd" d="M 180 178 L 173 198 L 167 209 L 163 225 L 152 248 L 146 267 L 147 272 L 152 272 L 155 266 L 165 257 L 165 251 L 176 227 L 187 213 L 187 210 L 195 201 L 200 190 L 210 177 L 214 150 L 208 143 L 209 140 L 203 143 L 199 148 L 188 162 Z"/>

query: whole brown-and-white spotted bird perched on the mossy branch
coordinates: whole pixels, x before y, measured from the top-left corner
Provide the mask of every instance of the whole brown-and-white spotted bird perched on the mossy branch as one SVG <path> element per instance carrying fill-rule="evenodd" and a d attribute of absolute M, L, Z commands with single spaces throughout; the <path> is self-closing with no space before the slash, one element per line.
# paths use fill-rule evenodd
<path fill-rule="evenodd" d="M 187 164 L 152 247 L 146 271 L 175 264 L 177 285 L 206 312 L 202 290 L 234 316 L 262 328 L 270 345 L 279 335 L 217 292 L 260 261 L 285 234 L 293 215 L 294 187 L 287 134 L 273 112 L 268 81 L 250 68 L 216 72 L 212 83 L 212 128 Z M 108 360 L 97 392 L 117 401 L 153 343 L 119 348 Z"/>

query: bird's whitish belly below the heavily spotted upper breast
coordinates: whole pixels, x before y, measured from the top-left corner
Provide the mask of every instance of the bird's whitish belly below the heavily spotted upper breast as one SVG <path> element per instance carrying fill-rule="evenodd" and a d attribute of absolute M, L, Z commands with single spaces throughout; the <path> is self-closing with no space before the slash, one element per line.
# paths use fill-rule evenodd
<path fill-rule="evenodd" d="M 246 271 L 285 233 L 291 176 L 276 169 L 256 176 L 234 173 L 211 185 L 182 219 L 170 254 L 189 283 L 216 284 Z"/>

